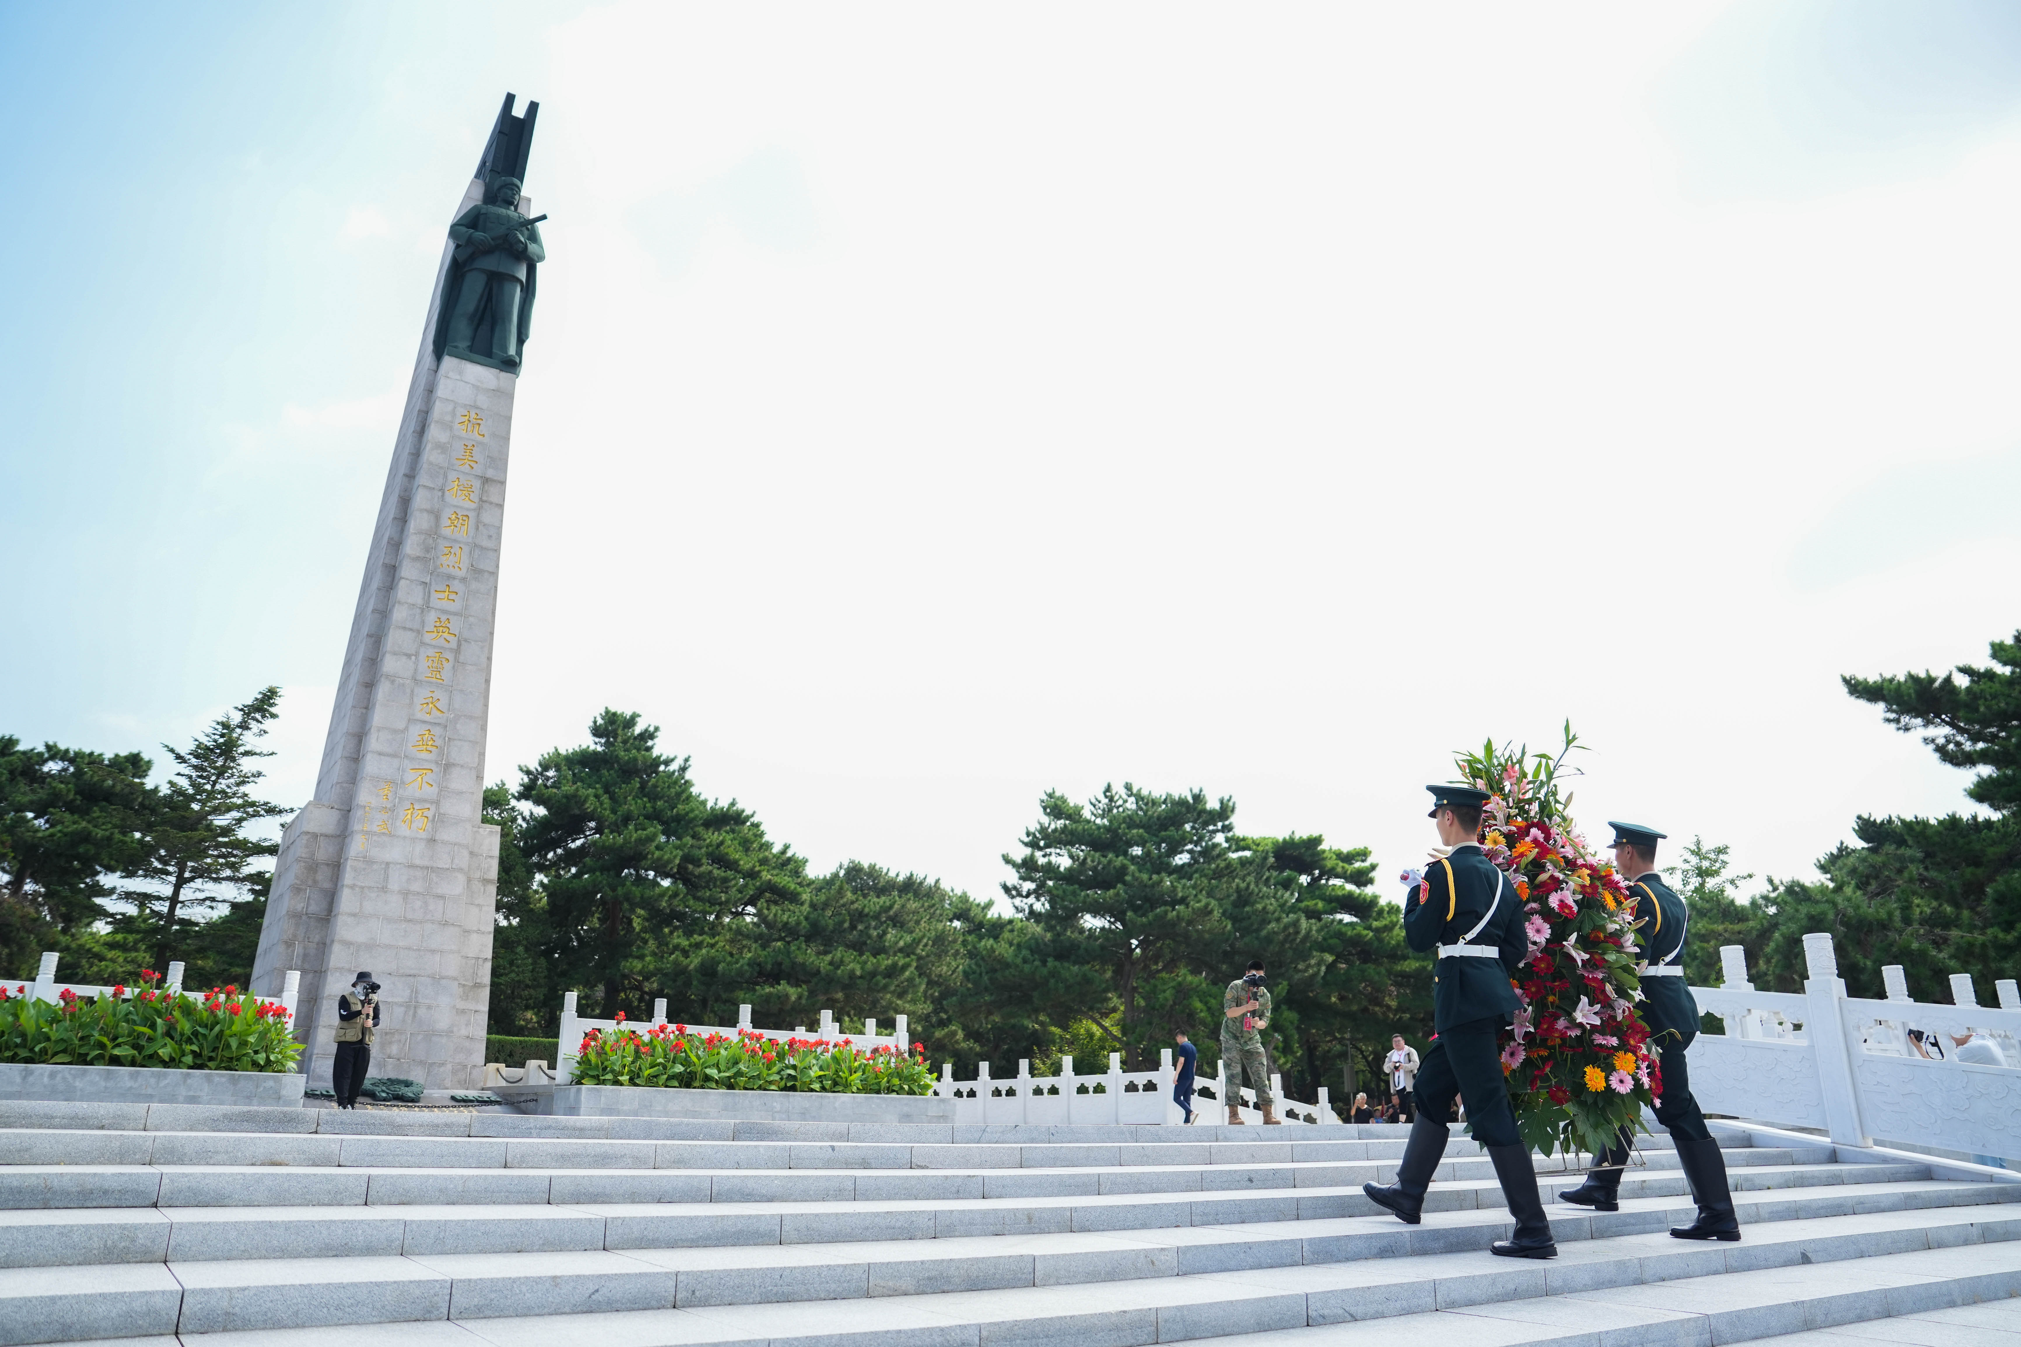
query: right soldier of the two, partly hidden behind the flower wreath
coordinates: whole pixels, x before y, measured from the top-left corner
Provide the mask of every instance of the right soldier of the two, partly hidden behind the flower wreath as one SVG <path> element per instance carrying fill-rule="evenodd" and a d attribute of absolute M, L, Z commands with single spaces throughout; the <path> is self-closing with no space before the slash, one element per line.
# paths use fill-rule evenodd
<path fill-rule="evenodd" d="M 1649 1026 L 1649 1046 L 1657 1054 L 1657 1070 L 1663 1078 L 1663 1095 L 1655 1101 L 1655 1121 L 1669 1129 L 1677 1143 L 1677 1163 L 1692 1185 L 1692 1200 L 1698 1202 L 1698 1220 L 1690 1226 L 1673 1228 L 1679 1240 L 1738 1240 L 1740 1220 L 1734 1216 L 1734 1198 L 1726 1187 L 1726 1157 L 1720 1143 L 1706 1127 L 1706 1113 L 1692 1099 L 1692 1076 L 1686 1070 L 1683 1050 L 1698 1038 L 1698 1002 L 1683 981 L 1683 939 L 1692 925 L 1692 913 L 1683 899 L 1671 893 L 1663 876 L 1655 872 L 1655 844 L 1665 834 L 1641 824 L 1617 824 L 1615 830 L 1615 870 L 1627 880 L 1629 899 L 1635 903 L 1635 947 L 1643 957 L 1643 1022 Z M 1615 1149 L 1595 1159 L 1586 1181 L 1570 1191 L 1558 1194 L 1560 1202 L 1574 1202 L 1597 1212 L 1621 1210 L 1621 1169 L 1629 1163 L 1629 1143 L 1633 1133 L 1623 1127 Z"/>

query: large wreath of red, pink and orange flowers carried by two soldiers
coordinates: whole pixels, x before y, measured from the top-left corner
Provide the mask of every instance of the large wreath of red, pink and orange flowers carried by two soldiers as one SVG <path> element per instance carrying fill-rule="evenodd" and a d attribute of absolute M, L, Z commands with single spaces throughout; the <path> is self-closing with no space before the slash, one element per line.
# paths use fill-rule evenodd
<path fill-rule="evenodd" d="M 1572 826 L 1558 794 L 1564 749 L 1530 753 L 1485 743 L 1457 757 L 1469 786 L 1491 792 L 1479 842 L 1516 887 L 1530 953 L 1512 977 L 1522 1010 L 1502 1036 L 1502 1072 L 1524 1143 L 1599 1153 L 1663 1093 L 1641 1000 L 1633 903 L 1613 866 Z"/>

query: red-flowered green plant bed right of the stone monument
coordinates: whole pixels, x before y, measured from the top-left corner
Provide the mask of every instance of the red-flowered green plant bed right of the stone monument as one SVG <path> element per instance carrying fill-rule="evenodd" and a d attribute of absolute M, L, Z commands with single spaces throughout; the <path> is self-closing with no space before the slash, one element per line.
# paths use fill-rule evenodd
<path fill-rule="evenodd" d="M 847 1040 L 766 1038 L 750 1030 L 691 1034 L 685 1024 L 590 1030 L 576 1056 L 576 1084 L 683 1091 L 794 1091 L 802 1095 L 930 1095 L 926 1044 L 911 1054 Z"/>

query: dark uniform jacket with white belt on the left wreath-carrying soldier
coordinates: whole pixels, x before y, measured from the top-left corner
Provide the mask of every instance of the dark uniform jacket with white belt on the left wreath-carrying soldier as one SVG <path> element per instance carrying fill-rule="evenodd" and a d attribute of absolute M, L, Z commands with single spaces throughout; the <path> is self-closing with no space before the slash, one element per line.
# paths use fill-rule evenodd
<path fill-rule="evenodd" d="M 1441 1034 L 1469 1020 L 1516 1018 L 1520 1002 L 1510 975 L 1530 953 L 1530 935 L 1524 931 L 1516 889 L 1502 883 L 1502 897 L 1496 899 L 1500 878 L 1502 872 L 1479 846 L 1455 846 L 1445 862 L 1433 860 L 1425 866 L 1425 883 L 1405 901 L 1403 935 L 1419 953 L 1435 945 L 1457 945 L 1459 937 L 1471 931 L 1489 907 L 1494 909 L 1487 925 L 1469 943 L 1487 945 L 1498 957 L 1439 959 L 1433 971 L 1431 1014 Z"/>

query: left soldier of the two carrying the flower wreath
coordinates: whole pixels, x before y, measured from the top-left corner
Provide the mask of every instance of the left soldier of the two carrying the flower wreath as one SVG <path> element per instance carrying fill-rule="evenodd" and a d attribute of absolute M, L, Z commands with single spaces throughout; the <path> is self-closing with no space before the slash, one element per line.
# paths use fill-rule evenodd
<path fill-rule="evenodd" d="M 1508 876 L 1479 848 L 1485 790 L 1427 786 L 1439 824 L 1439 840 L 1449 848 L 1425 866 L 1425 880 L 1405 901 L 1403 933 L 1411 949 L 1439 951 L 1433 979 L 1433 1020 L 1439 1028 L 1417 1068 L 1417 1121 L 1405 1143 L 1397 1181 L 1362 1183 L 1376 1206 L 1415 1226 L 1425 1210 L 1425 1189 L 1445 1155 L 1447 1119 L 1453 1097 L 1467 1105 L 1473 1139 L 1487 1149 L 1516 1218 L 1516 1238 L 1496 1240 L 1491 1252 L 1504 1258 L 1556 1258 L 1558 1244 L 1544 1218 L 1530 1147 L 1516 1133 L 1508 1082 L 1502 1076 L 1502 1048 L 1496 1036 L 1516 1018 L 1516 990 L 1510 973 L 1530 951 L 1522 901 Z"/>

